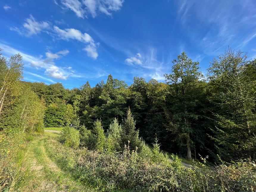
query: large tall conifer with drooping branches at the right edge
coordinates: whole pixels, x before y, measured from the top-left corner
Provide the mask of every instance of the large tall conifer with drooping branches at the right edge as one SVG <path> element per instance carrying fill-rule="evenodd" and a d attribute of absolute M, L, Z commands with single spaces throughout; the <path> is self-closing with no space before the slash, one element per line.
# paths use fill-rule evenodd
<path fill-rule="evenodd" d="M 216 106 L 212 138 L 224 160 L 238 159 L 242 154 L 255 158 L 256 81 L 248 64 L 246 53 L 229 48 L 213 59 L 208 69 L 212 92 L 209 99 Z"/>

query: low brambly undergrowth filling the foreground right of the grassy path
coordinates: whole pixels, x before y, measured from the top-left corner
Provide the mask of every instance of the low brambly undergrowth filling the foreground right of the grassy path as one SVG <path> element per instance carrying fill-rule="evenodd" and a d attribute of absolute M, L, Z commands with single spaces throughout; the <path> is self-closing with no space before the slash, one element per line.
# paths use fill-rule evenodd
<path fill-rule="evenodd" d="M 54 146 L 54 147 L 53 147 Z M 96 191 L 255 191 L 255 163 L 246 160 L 215 167 L 185 168 L 177 156 L 171 163 L 154 162 L 152 152 L 124 146 L 122 153 L 102 153 L 86 148 L 72 150 L 49 141 L 51 154 L 61 166 Z M 72 156 L 72 157 L 71 157 Z M 203 167 L 203 168 L 202 168 Z"/>

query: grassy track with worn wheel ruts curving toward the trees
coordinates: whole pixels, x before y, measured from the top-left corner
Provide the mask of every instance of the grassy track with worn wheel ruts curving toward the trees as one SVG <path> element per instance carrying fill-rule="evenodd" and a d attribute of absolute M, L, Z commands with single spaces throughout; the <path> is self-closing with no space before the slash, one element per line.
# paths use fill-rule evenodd
<path fill-rule="evenodd" d="M 31 191 L 88 191 L 49 158 L 45 150 L 46 139 L 56 136 L 57 133 L 46 132 L 45 136 L 36 137 L 29 145 L 27 159 L 34 174 L 31 181 L 34 189 Z"/>

